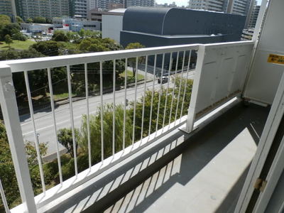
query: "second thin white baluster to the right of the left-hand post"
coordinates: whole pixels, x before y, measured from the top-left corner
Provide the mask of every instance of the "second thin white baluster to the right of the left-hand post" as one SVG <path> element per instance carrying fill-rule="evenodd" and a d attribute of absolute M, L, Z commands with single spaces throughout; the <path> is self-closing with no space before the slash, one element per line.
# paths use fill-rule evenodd
<path fill-rule="evenodd" d="M 54 127 L 54 134 L 55 134 L 55 144 L 56 144 L 56 154 L 58 156 L 58 171 L 59 171 L 59 179 L 60 184 L 62 185 L 62 169 L 61 169 L 61 160 L 60 160 L 60 152 L 59 152 L 59 146 L 58 146 L 58 130 L 56 126 L 56 120 L 55 120 L 55 107 L 54 107 L 54 98 L 53 98 L 53 82 L 51 80 L 51 72 L 50 68 L 48 68 L 48 87 L 49 87 L 49 93 L 50 93 L 50 104 L 51 104 L 51 111 L 53 115 L 53 127 Z"/>

